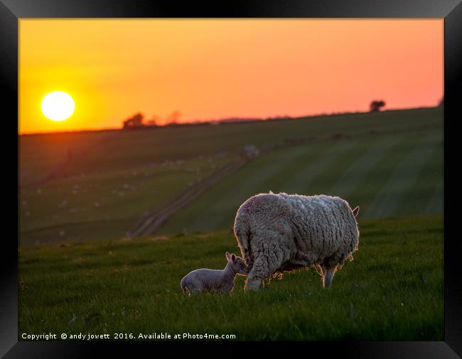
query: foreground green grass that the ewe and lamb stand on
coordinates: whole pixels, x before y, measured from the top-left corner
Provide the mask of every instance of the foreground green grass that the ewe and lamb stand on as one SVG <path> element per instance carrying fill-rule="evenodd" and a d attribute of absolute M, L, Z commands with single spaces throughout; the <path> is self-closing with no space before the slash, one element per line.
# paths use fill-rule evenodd
<path fill-rule="evenodd" d="M 330 289 L 311 269 L 245 293 L 187 298 L 179 282 L 238 253 L 232 233 L 19 249 L 18 333 L 209 333 L 237 340 L 444 340 L 442 216 L 360 220 Z M 59 336 L 59 335 L 58 335 Z M 20 339 L 21 340 L 21 339 Z"/>

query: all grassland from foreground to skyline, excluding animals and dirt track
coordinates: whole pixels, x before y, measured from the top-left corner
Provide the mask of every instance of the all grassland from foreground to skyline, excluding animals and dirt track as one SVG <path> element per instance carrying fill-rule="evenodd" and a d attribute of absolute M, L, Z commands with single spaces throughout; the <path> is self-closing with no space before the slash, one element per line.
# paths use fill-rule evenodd
<path fill-rule="evenodd" d="M 441 341 L 443 141 L 441 108 L 20 136 L 19 334 Z M 245 145 L 261 154 L 155 235 L 126 238 L 140 216 L 207 183 Z M 237 208 L 269 190 L 360 205 L 355 260 L 330 289 L 311 269 L 259 292 L 245 293 L 237 277 L 228 296 L 185 297 L 181 277 L 239 253 Z"/>

